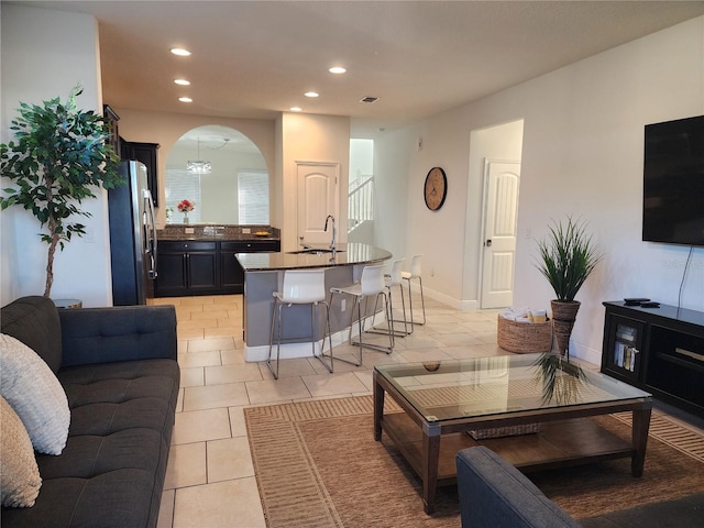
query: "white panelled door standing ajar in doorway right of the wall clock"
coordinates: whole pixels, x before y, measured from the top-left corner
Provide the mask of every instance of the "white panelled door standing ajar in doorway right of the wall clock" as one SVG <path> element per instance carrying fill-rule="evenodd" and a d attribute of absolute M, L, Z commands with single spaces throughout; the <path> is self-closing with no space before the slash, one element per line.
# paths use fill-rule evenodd
<path fill-rule="evenodd" d="M 514 300 L 520 162 L 485 160 L 484 184 L 481 307 L 501 308 Z"/>

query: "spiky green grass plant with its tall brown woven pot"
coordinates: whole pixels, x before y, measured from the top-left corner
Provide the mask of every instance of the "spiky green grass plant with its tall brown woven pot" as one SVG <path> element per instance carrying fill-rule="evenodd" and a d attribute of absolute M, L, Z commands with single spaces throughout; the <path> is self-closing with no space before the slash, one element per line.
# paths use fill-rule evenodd
<path fill-rule="evenodd" d="M 572 217 L 568 217 L 566 224 L 553 221 L 549 235 L 538 241 L 538 250 L 536 266 L 557 296 L 550 305 L 558 351 L 561 355 L 569 354 L 570 336 L 581 306 L 574 297 L 602 256 L 585 232 L 585 223 Z"/>

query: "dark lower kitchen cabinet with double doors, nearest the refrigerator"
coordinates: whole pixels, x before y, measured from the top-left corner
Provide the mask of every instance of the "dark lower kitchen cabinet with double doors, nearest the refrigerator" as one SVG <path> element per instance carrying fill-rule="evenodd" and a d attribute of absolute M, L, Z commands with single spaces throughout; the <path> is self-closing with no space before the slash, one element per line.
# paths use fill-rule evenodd
<path fill-rule="evenodd" d="M 216 242 L 162 241 L 157 251 L 157 297 L 218 293 Z"/>

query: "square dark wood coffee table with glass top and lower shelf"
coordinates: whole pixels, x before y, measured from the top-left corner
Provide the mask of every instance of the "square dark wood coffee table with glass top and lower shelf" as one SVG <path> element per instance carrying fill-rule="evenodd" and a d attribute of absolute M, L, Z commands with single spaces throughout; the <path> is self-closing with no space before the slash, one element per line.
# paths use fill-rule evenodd
<path fill-rule="evenodd" d="M 374 438 L 382 431 L 422 480 L 426 513 L 457 482 L 455 454 L 486 446 L 522 472 L 631 458 L 642 474 L 652 397 L 552 354 L 502 355 L 374 369 Z M 385 394 L 403 413 L 384 413 Z M 630 441 L 591 416 L 632 413 Z"/>

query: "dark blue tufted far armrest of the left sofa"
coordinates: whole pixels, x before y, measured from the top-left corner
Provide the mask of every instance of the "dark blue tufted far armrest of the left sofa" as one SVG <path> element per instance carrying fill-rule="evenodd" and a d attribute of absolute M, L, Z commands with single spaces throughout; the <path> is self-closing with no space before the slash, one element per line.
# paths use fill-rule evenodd
<path fill-rule="evenodd" d="M 62 367 L 116 361 L 176 360 L 173 306 L 59 310 Z"/>

